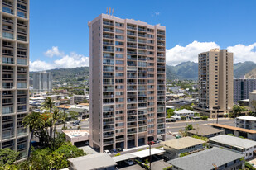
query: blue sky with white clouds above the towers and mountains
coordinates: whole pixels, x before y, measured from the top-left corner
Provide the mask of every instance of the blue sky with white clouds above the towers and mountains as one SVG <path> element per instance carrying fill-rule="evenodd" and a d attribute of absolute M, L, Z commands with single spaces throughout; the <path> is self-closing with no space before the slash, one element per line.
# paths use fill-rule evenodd
<path fill-rule="evenodd" d="M 196 61 L 197 52 L 211 47 L 233 50 L 234 62 L 244 55 L 256 62 L 255 0 L 31 0 L 30 5 L 31 70 L 87 65 L 87 23 L 106 7 L 114 8 L 116 17 L 166 26 L 167 64 Z M 65 64 L 74 59 L 82 62 Z"/>

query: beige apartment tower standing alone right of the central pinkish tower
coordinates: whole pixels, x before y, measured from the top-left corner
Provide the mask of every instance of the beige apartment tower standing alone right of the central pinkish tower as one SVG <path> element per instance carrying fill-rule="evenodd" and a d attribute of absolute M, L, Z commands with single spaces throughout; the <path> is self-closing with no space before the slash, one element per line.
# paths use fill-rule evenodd
<path fill-rule="evenodd" d="M 213 49 L 198 54 L 199 105 L 210 118 L 233 108 L 233 53 Z"/>

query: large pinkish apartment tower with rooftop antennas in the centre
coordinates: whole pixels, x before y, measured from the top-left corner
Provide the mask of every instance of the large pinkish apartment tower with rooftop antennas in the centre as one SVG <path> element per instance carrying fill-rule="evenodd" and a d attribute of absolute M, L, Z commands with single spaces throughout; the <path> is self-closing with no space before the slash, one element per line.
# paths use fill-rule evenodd
<path fill-rule="evenodd" d="M 165 139 L 165 30 L 108 14 L 89 22 L 92 147 Z"/>

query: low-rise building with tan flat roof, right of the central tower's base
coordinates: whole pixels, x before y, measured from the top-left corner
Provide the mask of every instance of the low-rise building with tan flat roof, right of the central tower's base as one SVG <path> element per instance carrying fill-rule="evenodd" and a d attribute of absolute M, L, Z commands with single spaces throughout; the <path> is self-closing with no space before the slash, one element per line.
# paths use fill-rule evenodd
<path fill-rule="evenodd" d="M 204 140 L 192 137 L 184 137 L 180 139 L 171 139 L 162 142 L 163 149 L 166 150 L 165 157 L 167 159 L 178 158 L 181 153 L 192 153 L 204 149 Z"/>

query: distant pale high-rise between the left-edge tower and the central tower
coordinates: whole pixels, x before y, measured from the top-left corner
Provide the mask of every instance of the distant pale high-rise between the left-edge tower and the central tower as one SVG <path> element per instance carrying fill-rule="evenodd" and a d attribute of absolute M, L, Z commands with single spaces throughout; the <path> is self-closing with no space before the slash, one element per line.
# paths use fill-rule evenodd
<path fill-rule="evenodd" d="M 52 77 L 51 73 L 33 73 L 33 92 L 51 92 Z"/>

